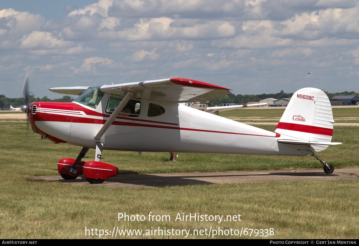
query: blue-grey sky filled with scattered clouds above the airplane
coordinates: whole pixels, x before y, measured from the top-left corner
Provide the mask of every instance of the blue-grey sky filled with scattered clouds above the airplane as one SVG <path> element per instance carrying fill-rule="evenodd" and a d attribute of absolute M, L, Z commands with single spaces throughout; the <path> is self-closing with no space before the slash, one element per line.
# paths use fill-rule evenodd
<path fill-rule="evenodd" d="M 357 0 L 1 0 L 0 95 L 181 77 L 359 92 Z M 308 74 L 308 72 L 312 72 Z"/>

